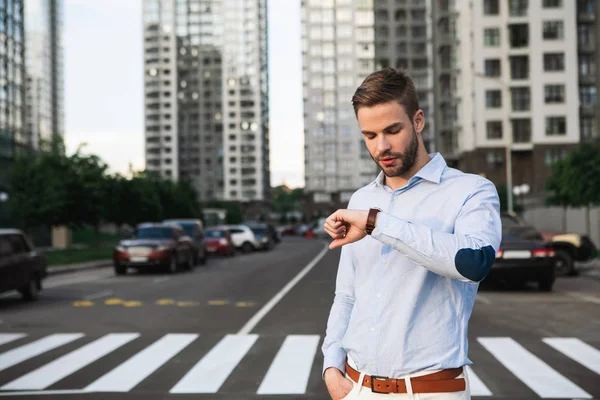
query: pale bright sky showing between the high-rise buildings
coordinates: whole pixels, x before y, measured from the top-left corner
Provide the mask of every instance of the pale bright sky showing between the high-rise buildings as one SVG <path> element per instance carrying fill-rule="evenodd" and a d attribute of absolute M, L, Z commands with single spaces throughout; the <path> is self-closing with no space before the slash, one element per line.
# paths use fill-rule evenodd
<path fill-rule="evenodd" d="M 271 185 L 304 186 L 300 0 L 270 0 Z M 65 139 L 144 168 L 142 0 L 64 0 Z"/>

